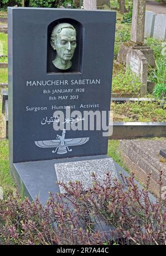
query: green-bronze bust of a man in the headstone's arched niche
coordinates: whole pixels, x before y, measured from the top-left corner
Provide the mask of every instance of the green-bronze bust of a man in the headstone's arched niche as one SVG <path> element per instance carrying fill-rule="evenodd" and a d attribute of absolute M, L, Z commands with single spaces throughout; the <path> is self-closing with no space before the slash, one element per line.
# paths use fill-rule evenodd
<path fill-rule="evenodd" d="M 76 49 L 76 30 L 73 25 L 69 23 L 56 25 L 51 33 L 50 44 L 56 50 L 54 66 L 61 70 L 70 69 Z"/>

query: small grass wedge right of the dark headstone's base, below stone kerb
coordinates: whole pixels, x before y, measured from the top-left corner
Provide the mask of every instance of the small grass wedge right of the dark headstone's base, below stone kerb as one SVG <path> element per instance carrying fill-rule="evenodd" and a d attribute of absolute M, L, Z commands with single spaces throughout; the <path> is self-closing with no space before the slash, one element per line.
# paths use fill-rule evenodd
<path fill-rule="evenodd" d="M 125 162 L 122 159 L 120 152 L 120 140 L 109 140 L 108 141 L 108 156 L 110 156 L 118 165 L 129 172 Z"/>

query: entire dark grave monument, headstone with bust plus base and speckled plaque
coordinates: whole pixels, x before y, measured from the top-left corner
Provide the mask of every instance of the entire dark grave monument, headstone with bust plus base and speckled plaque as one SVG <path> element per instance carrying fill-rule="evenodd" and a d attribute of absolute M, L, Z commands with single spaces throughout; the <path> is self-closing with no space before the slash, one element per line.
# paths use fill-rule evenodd
<path fill-rule="evenodd" d="M 108 129 L 115 23 L 110 11 L 8 8 L 9 168 L 31 199 L 77 173 L 86 186 L 90 172 L 116 176 L 97 128 Z"/>

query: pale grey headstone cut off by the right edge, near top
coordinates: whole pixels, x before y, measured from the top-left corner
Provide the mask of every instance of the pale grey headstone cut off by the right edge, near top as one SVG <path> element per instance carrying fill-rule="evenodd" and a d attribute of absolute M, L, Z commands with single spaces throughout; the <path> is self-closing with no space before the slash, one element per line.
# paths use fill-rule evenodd
<path fill-rule="evenodd" d="M 158 40 L 166 39 L 166 15 L 157 14 L 154 23 L 153 38 Z"/>

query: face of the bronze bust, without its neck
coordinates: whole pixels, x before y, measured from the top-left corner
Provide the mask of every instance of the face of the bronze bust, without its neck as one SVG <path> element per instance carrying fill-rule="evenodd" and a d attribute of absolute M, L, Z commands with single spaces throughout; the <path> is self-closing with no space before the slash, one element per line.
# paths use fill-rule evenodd
<path fill-rule="evenodd" d="M 71 60 L 76 48 L 76 32 L 72 28 L 63 28 L 54 40 L 57 55 L 62 60 Z"/>

